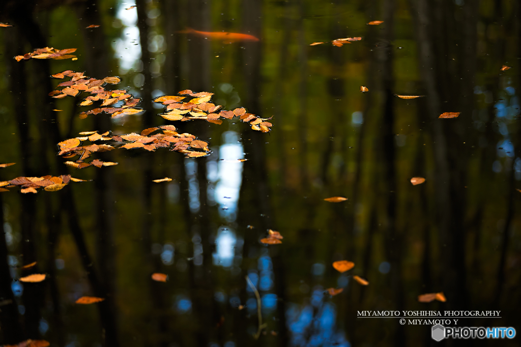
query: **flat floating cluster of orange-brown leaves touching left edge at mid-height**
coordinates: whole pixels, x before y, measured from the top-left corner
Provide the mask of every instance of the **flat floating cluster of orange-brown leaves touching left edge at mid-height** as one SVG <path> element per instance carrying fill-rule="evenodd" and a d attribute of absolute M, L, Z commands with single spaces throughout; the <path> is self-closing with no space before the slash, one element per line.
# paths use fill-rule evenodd
<path fill-rule="evenodd" d="M 17 177 L 10 181 L 0 182 L 0 192 L 9 191 L 7 188 L 21 187 L 22 193 L 38 193 L 43 188 L 48 192 L 56 192 L 64 188 L 69 182 L 85 182 L 70 175 L 43 176 L 43 177 Z"/>

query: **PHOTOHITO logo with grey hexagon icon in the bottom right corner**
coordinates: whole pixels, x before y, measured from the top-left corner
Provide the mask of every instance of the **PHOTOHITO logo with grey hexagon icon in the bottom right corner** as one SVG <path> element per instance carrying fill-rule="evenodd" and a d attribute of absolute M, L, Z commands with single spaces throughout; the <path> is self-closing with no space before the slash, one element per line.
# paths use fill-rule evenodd
<path fill-rule="evenodd" d="M 441 324 L 432 326 L 431 337 L 433 340 L 443 339 L 513 339 L 516 329 L 512 327 L 444 327 Z"/>

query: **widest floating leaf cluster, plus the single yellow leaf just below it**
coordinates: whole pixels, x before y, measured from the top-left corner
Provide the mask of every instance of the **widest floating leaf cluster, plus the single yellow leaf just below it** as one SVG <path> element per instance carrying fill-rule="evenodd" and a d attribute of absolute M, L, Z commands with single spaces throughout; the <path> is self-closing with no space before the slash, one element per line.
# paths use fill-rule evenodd
<path fill-rule="evenodd" d="M 155 131 L 160 131 L 154 135 L 150 135 Z M 160 127 L 148 128 L 141 132 L 141 134 L 130 133 L 123 135 L 111 135 L 109 131 L 102 134 L 97 131 L 84 131 L 79 134 L 81 137 L 68 139 L 58 143 L 60 152 L 58 155 L 64 158 L 72 158 L 80 156 L 76 162 L 66 162 L 68 166 L 78 169 L 89 166 L 112 166 L 117 163 L 102 162 L 94 159 L 90 163 L 85 163 L 84 160 L 89 158 L 92 153 L 108 152 L 116 148 L 125 148 L 131 150 L 133 148 L 143 148 L 143 150 L 153 152 L 157 148 L 170 148 L 171 151 L 176 151 L 185 154 L 187 157 L 203 157 L 210 153 L 208 142 L 196 140 L 195 136 L 189 133 L 178 133 L 175 131 L 176 127 L 173 125 L 165 125 Z M 150 135 L 150 136 L 148 136 Z M 90 141 L 89 145 L 81 145 L 83 141 Z M 97 144 L 95 142 L 111 141 L 111 144 Z M 117 147 L 116 147 L 117 146 Z M 157 180 L 159 182 L 171 180 L 169 178 Z"/>

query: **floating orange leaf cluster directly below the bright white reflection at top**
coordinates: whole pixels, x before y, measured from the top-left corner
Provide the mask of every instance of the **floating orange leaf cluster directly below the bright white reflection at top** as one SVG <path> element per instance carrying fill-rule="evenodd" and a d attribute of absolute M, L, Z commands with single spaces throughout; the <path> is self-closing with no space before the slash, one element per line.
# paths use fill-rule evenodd
<path fill-rule="evenodd" d="M 66 70 L 63 72 L 56 73 L 52 77 L 57 79 L 64 79 L 70 77 L 70 80 L 61 82 L 58 87 L 64 87 L 61 90 L 54 90 L 49 93 L 54 98 L 63 98 L 67 95 L 77 96 L 81 92 L 91 93 L 91 96 L 87 96 L 80 103 L 80 106 L 90 106 L 94 102 L 101 101 L 101 106 L 113 106 L 118 102 L 122 102 L 119 107 L 98 107 L 89 111 L 80 113 L 80 118 L 87 118 L 89 115 L 97 115 L 105 112 L 112 115 L 113 118 L 117 116 L 133 115 L 142 112 L 142 109 L 133 108 L 137 106 L 141 99 L 134 98 L 132 94 L 129 94 L 127 90 L 105 90 L 105 84 L 118 84 L 121 80 L 118 77 L 105 77 L 104 79 L 98 80 L 83 75 L 83 72 L 75 72 Z"/>

